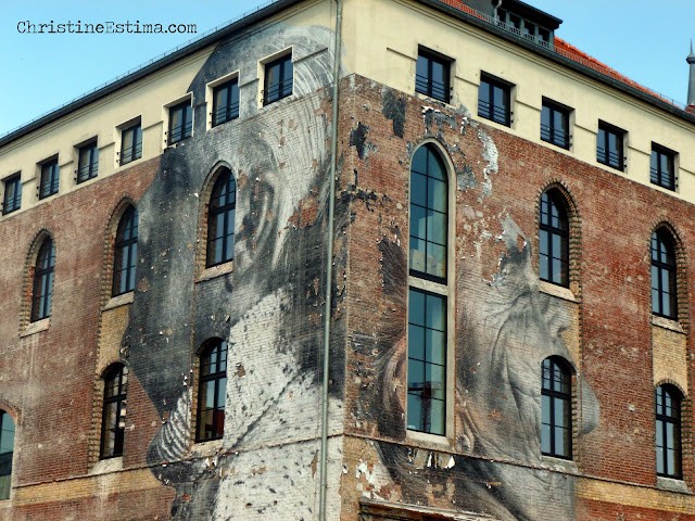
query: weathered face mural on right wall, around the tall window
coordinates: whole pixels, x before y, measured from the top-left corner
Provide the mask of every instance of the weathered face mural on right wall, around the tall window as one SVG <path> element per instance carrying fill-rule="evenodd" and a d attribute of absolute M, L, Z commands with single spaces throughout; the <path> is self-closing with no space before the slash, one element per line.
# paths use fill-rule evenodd
<path fill-rule="evenodd" d="M 494 148 L 480 132 L 479 138 L 486 149 Z M 496 157 L 493 152 L 485 153 L 488 161 Z M 482 190 L 493 189 L 488 170 Z M 374 496 L 462 508 L 501 520 L 573 519 L 576 479 L 540 468 L 554 465 L 543 460 L 540 452 L 541 365 L 548 356 L 557 356 L 579 367 L 564 341 L 570 317 L 561 301 L 539 291 L 528 236 L 509 215 L 498 226 L 501 233 L 482 233 L 478 241 L 479 247 L 485 242 L 504 245 L 491 280 L 482 274 L 480 255 L 466 255 L 456 267 L 454 422 L 456 447 L 466 456 L 439 461 L 435 452 L 380 442 L 382 481 L 374 490 L 392 491 L 389 483 L 395 483 L 400 497 L 380 497 L 378 492 Z M 405 307 L 407 289 L 391 277 L 405 272 L 405 253 L 386 238 L 381 252 L 387 297 L 394 306 Z M 407 346 L 402 328 L 387 325 L 381 338 L 381 394 L 376 402 L 386 404 L 380 410 L 391 412 L 377 421 L 382 433 L 402 437 L 403 430 L 393 425 L 405 417 L 396 390 L 406 380 Z M 596 425 L 598 405 L 581 376 L 576 392 L 582 407 L 576 429 L 581 434 Z"/>

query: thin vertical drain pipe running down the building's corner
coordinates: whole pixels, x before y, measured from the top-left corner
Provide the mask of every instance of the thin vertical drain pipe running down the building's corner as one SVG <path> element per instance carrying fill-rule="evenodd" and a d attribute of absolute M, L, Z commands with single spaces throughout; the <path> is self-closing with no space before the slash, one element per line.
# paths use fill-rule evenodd
<path fill-rule="evenodd" d="M 338 163 L 338 81 L 340 80 L 342 0 L 336 0 L 336 42 L 333 43 L 333 114 L 330 135 L 330 179 L 326 254 L 326 305 L 324 308 L 324 385 L 321 389 L 321 445 L 319 455 L 318 519 L 326 521 L 328 492 L 328 385 L 330 383 L 330 319 L 333 300 L 333 225 L 336 220 L 336 169 Z"/>

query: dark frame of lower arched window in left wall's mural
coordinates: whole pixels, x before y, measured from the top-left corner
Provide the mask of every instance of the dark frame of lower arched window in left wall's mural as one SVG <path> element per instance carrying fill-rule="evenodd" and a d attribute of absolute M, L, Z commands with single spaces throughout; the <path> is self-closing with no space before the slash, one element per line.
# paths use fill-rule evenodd
<path fill-rule="evenodd" d="M 224 370 L 217 370 L 203 374 L 204 368 L 212 366 L 213 363 L 205 364 L 207 357 L 216 355 L 214 364 L 217 368 L 220 367 L 224 361 Z M 226 396 L 227 396 L 227 376 L 229 361 L 229 343 L 223 339 L 211 339 L 203 344 L 203 348 L 199 355 L 199 372 L 198 372 L 198 408 L 195 411 L 195 443 L 211 442 L 213 440 L 220 440 L 225 434 L 225 418 L 226 418 Z M 222 383 L 224 380 L 224 384 Z M 213 406 L 203 408 L 203 401 L 207 397 L 203 392 L 204 385 L 212 382 L 213 385 Z M 224 387 L 223 387 L 224 385 Z M 224 402 L 219 403 L 220 387 L 223 387 Z M 207 435 L 208 429 L 203 423 L 203 414 L 212 410 L 212 424 L 210 428 L 211 434 Z M 222 415 L 217 411 L 222 410 Z M 220 418 L 222 417 L 222 418 Z M 222 424 L 220 424 L 222 422 Z M 202 433 L 202 435 L 201 435 Z"/>

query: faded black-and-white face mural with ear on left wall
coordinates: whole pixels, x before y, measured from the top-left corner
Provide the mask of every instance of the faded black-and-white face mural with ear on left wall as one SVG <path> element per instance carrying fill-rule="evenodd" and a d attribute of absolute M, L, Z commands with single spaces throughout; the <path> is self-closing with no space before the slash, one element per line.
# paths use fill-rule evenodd
<path fill-rule="evenodd" d="M 170 411 L 150 445 L 151 462 L 189 457 L 188 382 L 197 381 L 188 370 L 190 339 L 194 346 L 212 336 L 229 345 L 220 448 L 214 458 L 154 471 L 176 488 L 176 519 L 281 519 L 288 511 L 313 518 L 329 179 L 328 117 L 320 114 L 330 107 L 325 89 L 331 43 L 328 29 L 282 24 L 222 42 L 191 85 L 195 99 L 208 81 L 240 71 L 242 117 L 258 112 L 252 81 L 257 61 L 290 46 L 300 99 L 207 131 L 203 107 L 195 132 L 204 137 L 165 152 L 160 175 L 140 202 L 141 228 L 148 231 L 139 247 L 142 264 L 152 266 L 144 275 L 151 289 L 136 297 L 130 335 L 140 342 L 131 346 L 130 367 L 136 376 L 147 374 L 153 353 L 166 353 L 166 366 L 175 368 L 142 382 L 160 412 Z M 205 203 L 198 192 L 219 164 L 238 183 L 233 272 L 191 288 L 194 247 L 181 244 L 198 236 L 194 216 Z M 165 251 L 176 252 L 167 265 Z M 181 305 L 188 302 L 192 309 Z M 166 342 L 156 338 L 157 329 L 166 332 L 160 333 Z M 333 395 L 342 385 L 339 358 L 331 372 Z M 178 396 L 174 407 L 165 405 L 167 395 Z M 331 418 L 340 417 L 340 406 L 331 398 Z"/>

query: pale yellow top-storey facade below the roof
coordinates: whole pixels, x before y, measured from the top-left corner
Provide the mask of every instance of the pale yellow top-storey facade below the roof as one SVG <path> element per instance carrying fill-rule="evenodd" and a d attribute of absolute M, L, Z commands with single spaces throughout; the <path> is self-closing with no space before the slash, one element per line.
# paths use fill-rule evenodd
<path fill-rule="evenodd" d="M 389 23 L 382 23 L 383 21 Z M 317 26 L 334 30 L 336 3 L 329 0 L 303 2 L 275 17 L 267 18 L 254 33 L 274 24 Z M 365 37 L 364 35 L 369 35 Z M 561 28 L 559 30 L 561 36 Z M 345 0 L 342 22 L 342 77 L 357 74 L 406 93 L 414 92 L 415 65 L 420 47 L 452 59 L 451 105 L 467 111 L 477 118 L 478 88 L 481 72 L 513 84 L 513 123 L 498 127 L 522 139 L 552 148 L 561 154 L 605 168 L 636 182 L 650 186 L 671 195 L 695 202 L 695 151 L 690 143 L 695 126 L 635 98 L 603 85 L 579 72 L 568 69 L 542 55 L 508 42 L 472 25 L 454 20 L 417 1 Z M 132 166 L 119 166 L 118 152 L 124 125 L 140 118 L 142 125 L 142 157 L 147 161 L 166 148 L 167 107 L 187 99 L 188 88 L 214 45 L 157 71 L 108 97 L 90 103 L 56 122 L 22 137 L 0 149 L 0 180 L 22 173 L 22 208 L 38 203 L 37 185 L 40 162 L 58 155 L 61 168 L 60 193 L 76 185 L 77 149 L 87 140 L 98 139 L 99 178 Z M 291 52 L 278 48 L 269 56 L 256 56 L 255 69 L 227 75 L 239 78 L 240 88 L 255 84 L 255 103 L 245 104 L 251 117 L 263 111 L 263 64 L 274 56 Z M 222 78 L 207 84 L 206 99 L 192 100 L 212 107 L 212 88 Z M 243 94 L 242 94 L 243 96 Z M 570 150 L 554 147 L 540 138 L 542 99 L 567 105 L 571 112 Z M 243 101 L 243 100 L 242 100 Z M 429 104 L 422 97 L 424 104 Z M 210 110 L 206 111 L 210 114 Z M 619 171 L 596 162 L 598 120 L 626 130 L 627 167 Z M 206 123 L 210 129 L 211 122 Z M 678 189 L 674 192 L 649 183 L 652 143 L 677 152 Z M 533 165 L 528 165 L 533 168 Z M 548 173 L 551 175 L 552 173 Z M 87 181 L 87 183 L 93 180 Z M 0 219 L 5 218 L 0 217 Z"/>

